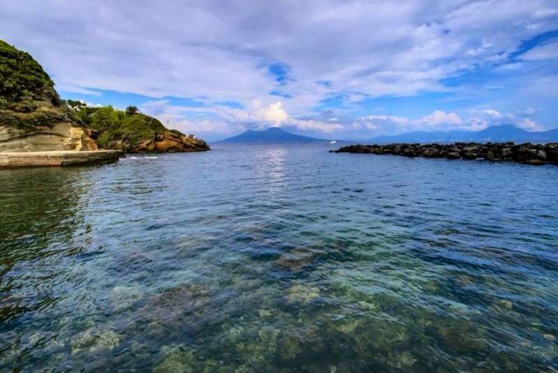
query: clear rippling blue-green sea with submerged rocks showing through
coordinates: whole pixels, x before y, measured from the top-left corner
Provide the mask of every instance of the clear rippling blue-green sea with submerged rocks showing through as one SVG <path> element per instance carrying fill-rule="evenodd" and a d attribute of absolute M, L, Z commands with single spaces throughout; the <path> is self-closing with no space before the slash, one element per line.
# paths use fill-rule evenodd
<path fill-rule="evenodd" d="M 213 148 L 0 171 L 0 371 L 558 371 L 558 167 Z"/>

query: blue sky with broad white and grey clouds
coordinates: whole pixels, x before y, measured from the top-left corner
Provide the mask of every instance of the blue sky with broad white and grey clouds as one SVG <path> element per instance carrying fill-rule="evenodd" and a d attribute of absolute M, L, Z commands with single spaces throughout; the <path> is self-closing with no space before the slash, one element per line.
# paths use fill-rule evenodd
<path fill-rule="evenodd" d="M 2 0 L 0 39 L 209 141 L 558 127 L 556 0 Z"/>

